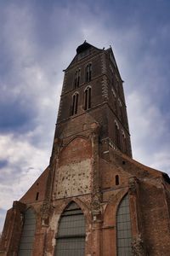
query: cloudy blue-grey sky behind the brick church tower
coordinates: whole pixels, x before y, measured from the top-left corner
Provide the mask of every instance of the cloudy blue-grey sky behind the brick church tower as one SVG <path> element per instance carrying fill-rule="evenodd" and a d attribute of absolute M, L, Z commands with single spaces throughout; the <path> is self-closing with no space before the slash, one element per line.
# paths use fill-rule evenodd
<path fill-rule="evenodd" d="M 133 158 L 170 174 L 170 1 L 0 0 L 0 230 L 48 166 L 63 72 L 79 44 L 111 44 Z"/>

